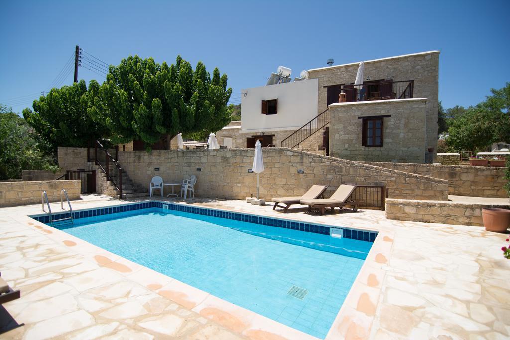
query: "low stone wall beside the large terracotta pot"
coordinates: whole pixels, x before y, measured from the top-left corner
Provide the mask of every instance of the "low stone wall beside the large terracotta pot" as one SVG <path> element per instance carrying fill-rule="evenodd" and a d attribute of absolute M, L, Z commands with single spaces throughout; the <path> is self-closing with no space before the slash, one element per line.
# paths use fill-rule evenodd
<path fill-rule="evenodd" d="M 386 216 L 392 220 L 483 225 L 483 207 L 508 208 L 510 204 L 474 204 L 449 201 L 387 199 Z"/>

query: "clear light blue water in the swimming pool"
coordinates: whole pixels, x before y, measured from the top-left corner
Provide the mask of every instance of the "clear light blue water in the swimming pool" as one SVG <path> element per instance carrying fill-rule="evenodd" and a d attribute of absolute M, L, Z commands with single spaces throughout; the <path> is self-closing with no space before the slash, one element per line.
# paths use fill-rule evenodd
<path fill-rule="evenodd" d="M 112 215 L 127 216 L 76 219 L 63 230 L 321 338 L 372 245 L 156 207 Z M 292 286 L 308 291 L 302 300 L 288 294 Z"/>

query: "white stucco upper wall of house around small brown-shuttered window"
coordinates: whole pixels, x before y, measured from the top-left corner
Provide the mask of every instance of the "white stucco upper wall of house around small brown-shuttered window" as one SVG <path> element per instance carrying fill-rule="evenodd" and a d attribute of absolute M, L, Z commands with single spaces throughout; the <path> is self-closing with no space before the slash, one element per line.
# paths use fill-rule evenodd
<path fill-rule="evenodd" d="M 301 127 L 317 116 L 318 85 L 318 79 L 309 79 L 241 90 L 241 130 L 295 130 Z M 262 114 L 262 100 L 267 99 L 278 99 L 277 114 Z"/>

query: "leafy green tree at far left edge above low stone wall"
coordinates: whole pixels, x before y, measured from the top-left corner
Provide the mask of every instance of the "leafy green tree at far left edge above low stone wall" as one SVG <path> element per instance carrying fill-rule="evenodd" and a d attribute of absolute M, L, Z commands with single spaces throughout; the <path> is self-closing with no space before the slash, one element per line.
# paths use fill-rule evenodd
<path fill-rule="evenodd" d="M 0 179 L 21 178 L 21 170 L 52 170 L 55 160 L 40 151 L 39 136 L 12 109 L 0 104 Z"/>

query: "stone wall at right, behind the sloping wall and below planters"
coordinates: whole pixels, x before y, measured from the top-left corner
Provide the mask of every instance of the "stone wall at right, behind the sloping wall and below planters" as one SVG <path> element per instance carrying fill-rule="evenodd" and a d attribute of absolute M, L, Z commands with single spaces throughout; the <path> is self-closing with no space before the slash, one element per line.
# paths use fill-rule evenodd
<path fill-rule="evenodd" d="M 380 162 L 365 162 L 365 164 L 446 179 L 449 181 L 450 195 L 508 197 L 503 189 L 506 183 L 505 168 Z"/>

